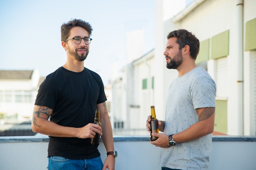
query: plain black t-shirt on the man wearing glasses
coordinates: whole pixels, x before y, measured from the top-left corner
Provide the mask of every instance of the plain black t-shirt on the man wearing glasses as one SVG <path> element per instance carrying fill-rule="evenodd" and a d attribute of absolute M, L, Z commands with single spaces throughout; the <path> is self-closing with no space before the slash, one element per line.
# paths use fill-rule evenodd
<path fill-rule="evenodd" d="M 50 121 L 68 127 L 80 128 L 93 123 L 96 105 L 105 102 L 101 77 L 87 68 L 75 73 L 60 67 L 49 74 L 40 85 L 35 105 L 53 109 Z M 90 138 L 49 137 L 48 157 L 92 159 L 100 156 Z"/>

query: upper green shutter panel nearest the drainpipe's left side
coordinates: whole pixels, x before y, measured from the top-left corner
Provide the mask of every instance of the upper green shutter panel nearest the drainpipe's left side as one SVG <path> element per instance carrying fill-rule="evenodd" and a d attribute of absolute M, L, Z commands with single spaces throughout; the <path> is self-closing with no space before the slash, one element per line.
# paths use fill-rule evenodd
<path fill-rule="evenodd" d="M 211 59 L 229 55 L 229 30 L 211 38 Z"/>

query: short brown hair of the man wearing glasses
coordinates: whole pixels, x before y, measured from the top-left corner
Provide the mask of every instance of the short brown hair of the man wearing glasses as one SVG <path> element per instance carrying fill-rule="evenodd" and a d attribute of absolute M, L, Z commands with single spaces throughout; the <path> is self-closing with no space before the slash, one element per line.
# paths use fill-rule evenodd
<path fill-rule="evenodd" d="M 67 40 L 70 36 L 70 29 L 73 27 L 80 26 L 88 31 L 89 37 L 92 35 L 92 26 L 83 20 L 72 19 L 61 26 L 61 41 Z"/>

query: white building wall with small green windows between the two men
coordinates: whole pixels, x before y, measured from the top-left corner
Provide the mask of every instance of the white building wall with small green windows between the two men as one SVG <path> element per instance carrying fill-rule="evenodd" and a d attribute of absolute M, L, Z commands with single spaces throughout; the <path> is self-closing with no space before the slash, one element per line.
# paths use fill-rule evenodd
<path fill-rule="evenodd" d="M 148 135 L 145 120 L 150 115 L 150 105 L 154 105 L 153 56 L 154 51 L 150 51 L 127 64 L 121 71 L 121 78 L 112 84 L 114 122 L 124 122 L 123 128 L 114 127 L 114 135 Z"/>

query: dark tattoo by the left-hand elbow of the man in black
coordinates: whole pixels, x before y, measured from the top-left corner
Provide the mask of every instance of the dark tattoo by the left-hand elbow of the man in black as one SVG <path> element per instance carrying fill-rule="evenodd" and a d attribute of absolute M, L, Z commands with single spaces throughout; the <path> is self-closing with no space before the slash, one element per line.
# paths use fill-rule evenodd
<path fill-rule="evenodd" d="M 42 127 L 36 123 L 37 119 L 45 119 L 48 120 L 50 113 L 52 112 L 51 108 L 40 106 L 38 110 L 34 110 L 33 112 L 33 124 L 38 127 Z"/>

